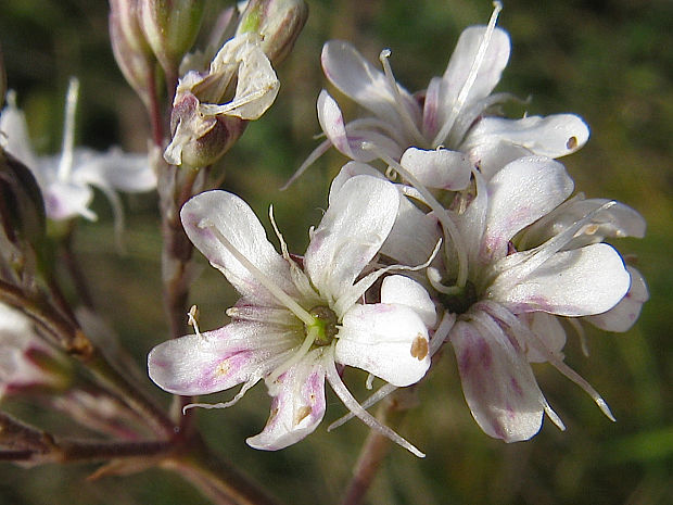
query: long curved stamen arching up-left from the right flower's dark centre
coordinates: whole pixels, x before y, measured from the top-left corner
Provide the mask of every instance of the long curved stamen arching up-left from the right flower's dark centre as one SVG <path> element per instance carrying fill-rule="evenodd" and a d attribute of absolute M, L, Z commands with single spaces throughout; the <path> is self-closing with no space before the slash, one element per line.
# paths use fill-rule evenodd
<path fill-rule="evenodd" d="M 411 186 L 414 186 L 421 197 L 423 197 L 426 204 L 435 213 L 440 224 L 442 225 L 444 235 L 450 238 L 456 255 L 458 256 L 458 276 L 456 279 L 456 286 L 465 288 L 468 280 L 468 251 L 458 227 L 450 218 L 449 211 L 444 209 L 442 204 L 432 195 L 432 193 L 428 191 L 428 188 L 426 188 L 410 172 L 408 172 L 391 156 L 370 142 L 365 142 L 363 147 L 376 152 L 381 160 L 393 166 L 397 173 L 402 174 L 402 176 L 407 179 Z M 448 249 L 448 241 L 446 241 L 446 248 Z"/>

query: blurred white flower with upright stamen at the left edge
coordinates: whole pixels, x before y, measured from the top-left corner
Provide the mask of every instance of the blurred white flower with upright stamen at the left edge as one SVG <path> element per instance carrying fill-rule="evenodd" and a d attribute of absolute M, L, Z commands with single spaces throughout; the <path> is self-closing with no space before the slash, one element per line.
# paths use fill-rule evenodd
<path fill-rule="evenodd" d="M 110 199 L 117 229 L 123 225 L 122 203 L 116 191 L 142 192 L 156 187 L 156 177 L 145 155 L 127 154 L 119 149 L 100 153 L 74 148 L 74 119 L 79 84 L 71 79 L 66 99 L 63 151 L 55 156 L 37 156 L 30 144 L 24 113 L 16 108 L 15 96 L 8 93 L 8 105 L 0 114 L 0 143 L 35 175 L 42 191 L 47 216 L 54 220 L 82 216 L 94 220 L 89 205 L 92 188 Z"/>

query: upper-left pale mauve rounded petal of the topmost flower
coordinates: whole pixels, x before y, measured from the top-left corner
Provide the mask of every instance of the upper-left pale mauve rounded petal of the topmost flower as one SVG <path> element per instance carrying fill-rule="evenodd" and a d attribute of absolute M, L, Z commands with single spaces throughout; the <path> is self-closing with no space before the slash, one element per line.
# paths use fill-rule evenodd
<path fill-rule="evenodd" d="M 396 100 L 385 75 L 365 60 L 351 43 L 343 40 L 326 42 L 321 62 L 325 75 L 341 92 L 380 118 L 391 124 L 399 123 Z M 420 115 L 411 94 L 399 85 L 397 88 L 411 116 Z"/>

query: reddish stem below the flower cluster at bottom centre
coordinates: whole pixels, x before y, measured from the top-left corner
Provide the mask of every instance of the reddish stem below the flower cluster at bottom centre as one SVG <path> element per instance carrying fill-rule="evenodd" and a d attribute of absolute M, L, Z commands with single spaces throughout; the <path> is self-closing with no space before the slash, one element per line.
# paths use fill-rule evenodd
<path fill-rule="evenodd" d="M 411 391 L 404 389 L 395 391 L 385 399 L 384 403 L 379 405 L 377 419 L 392 429 L 397 428 L 406 411 L 412 405 L 409 397 L 412 394 Z M 342 505 L 358 505 L 363 502 L 390 447 L 391 440 L 388 437 L 374 430 L 369 431 L 353 469 L 353 477 L 346 488 Z"/>

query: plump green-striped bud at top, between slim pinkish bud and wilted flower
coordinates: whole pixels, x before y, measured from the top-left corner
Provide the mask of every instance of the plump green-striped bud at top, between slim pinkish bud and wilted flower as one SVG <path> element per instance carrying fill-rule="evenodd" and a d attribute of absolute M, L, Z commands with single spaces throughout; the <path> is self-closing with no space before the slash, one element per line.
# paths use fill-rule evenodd
<path fill-rule="evenodd" d="M 177 75 L 182 56 L 194 43 L 203 0 L 139 0 L 140 26 L 167 75 Z"/>

